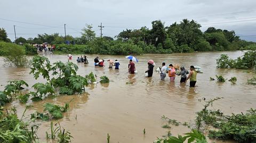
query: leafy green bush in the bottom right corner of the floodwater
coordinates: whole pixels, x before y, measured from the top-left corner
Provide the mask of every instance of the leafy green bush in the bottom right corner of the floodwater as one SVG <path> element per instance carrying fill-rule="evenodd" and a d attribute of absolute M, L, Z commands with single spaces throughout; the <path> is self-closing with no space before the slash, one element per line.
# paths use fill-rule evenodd
<path fill-rule="evenodd" d="M 231 115 L 225 115 L 220 110 L 209 110 L 208 107 L 212 106 L 213 102 L 218 99 L 221 98 L 205 101 L 204 108 L 197 112 L 197 129 L 201 129 L 203 125 L 216 128 L 217 130 L 211 130 L 212 128 L 206 127 L 210 129 L 209 137 L 212 139 L 255 142 L 256 110 L 251 108 L 246 114 L 233 113 Z"/>

